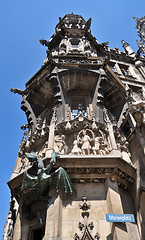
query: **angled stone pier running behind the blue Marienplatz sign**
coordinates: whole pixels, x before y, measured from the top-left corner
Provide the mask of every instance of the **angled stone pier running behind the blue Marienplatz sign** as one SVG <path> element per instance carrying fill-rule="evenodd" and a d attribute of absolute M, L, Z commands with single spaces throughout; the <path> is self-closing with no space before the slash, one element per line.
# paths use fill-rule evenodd
<path fill-rule="evenodd" d="M 112 214 L 124 214 L 122 202 L 119 194 L 118 184 L 116 180 L 111 181 L 110 178 L 106 179 L 107 188 L 107 207 L 108 213 Z M 113 240 L 129 240 L 128 232 L 125 223 L 110 223 L 111 234 Z"/>

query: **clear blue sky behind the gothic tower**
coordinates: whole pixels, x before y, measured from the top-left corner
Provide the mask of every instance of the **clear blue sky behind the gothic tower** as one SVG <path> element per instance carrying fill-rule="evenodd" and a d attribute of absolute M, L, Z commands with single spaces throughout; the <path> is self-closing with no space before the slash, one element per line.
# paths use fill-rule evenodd
<path fill-rule="evenodd" d="M 25 88 L 25 83 L 39 70 L 46 49 L 39 39 L 49 40 L 58 17 L 68 13 L 92 18 L 92 34 L 98 42 L 109 41 L 110 48 L 122 49 L 121 40 L 137 51 L 135 20 L 145 15 L 145 0 L 4 0 L 0 2 L 0 78 L 1 78 L 1 170 L 0 239 L 9 209 L 7 181 L 13 171 L 26 123 L 20 109 L 21 96 L 10 88 Z"/>

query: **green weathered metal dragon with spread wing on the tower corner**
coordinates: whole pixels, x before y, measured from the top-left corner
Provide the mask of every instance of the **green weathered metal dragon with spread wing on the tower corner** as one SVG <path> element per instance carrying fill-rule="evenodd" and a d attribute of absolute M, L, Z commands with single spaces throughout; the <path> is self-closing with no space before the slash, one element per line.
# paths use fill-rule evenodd
<path fill-rule="evenodd" d="M 48 190 L 50 185 L 54 185 L 56 189 L 62 190 L 65 194 L 72 194 L 74 188 L 67 172 L 63 168 L 58 168 L 50 173 L 56 163 L 58 154 L 53 152 L 50 164 L 44 167 L 43 159 L 36 153 L 25 153 L 26 157 L 31 162 L 32 168 L 25 171 L 21 186 L 23 195 L 22 211 L 23 216 L 31 218 L 31 204 L 38 200 L 46 200 L 44 192 Z M 40 214 L 37 214 L 37 216 Z M 40 221 L 39 221 L 40 222 Z"/>

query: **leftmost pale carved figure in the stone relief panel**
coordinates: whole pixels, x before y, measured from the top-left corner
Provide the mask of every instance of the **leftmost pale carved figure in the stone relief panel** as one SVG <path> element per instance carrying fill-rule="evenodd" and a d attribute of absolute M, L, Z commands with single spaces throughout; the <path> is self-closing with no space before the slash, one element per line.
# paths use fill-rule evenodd
<path fill-rule="evenodd" d="M 60 154 L 66 153 L 66 144 L 65 144 L 65 136 L 64 135 L 57 135 L 55 136 L 55 144 L 54 149 L 56 152 Z"/>

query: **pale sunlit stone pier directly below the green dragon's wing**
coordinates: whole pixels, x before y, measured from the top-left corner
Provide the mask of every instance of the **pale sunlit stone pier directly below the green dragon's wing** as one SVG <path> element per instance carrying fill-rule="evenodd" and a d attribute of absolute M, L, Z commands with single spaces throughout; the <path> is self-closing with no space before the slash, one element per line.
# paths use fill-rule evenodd
<path fill-rule="evenodd" d="M 62 239 L 62 200 L 60 196 L 48 204 L 44 240 Z"/>

